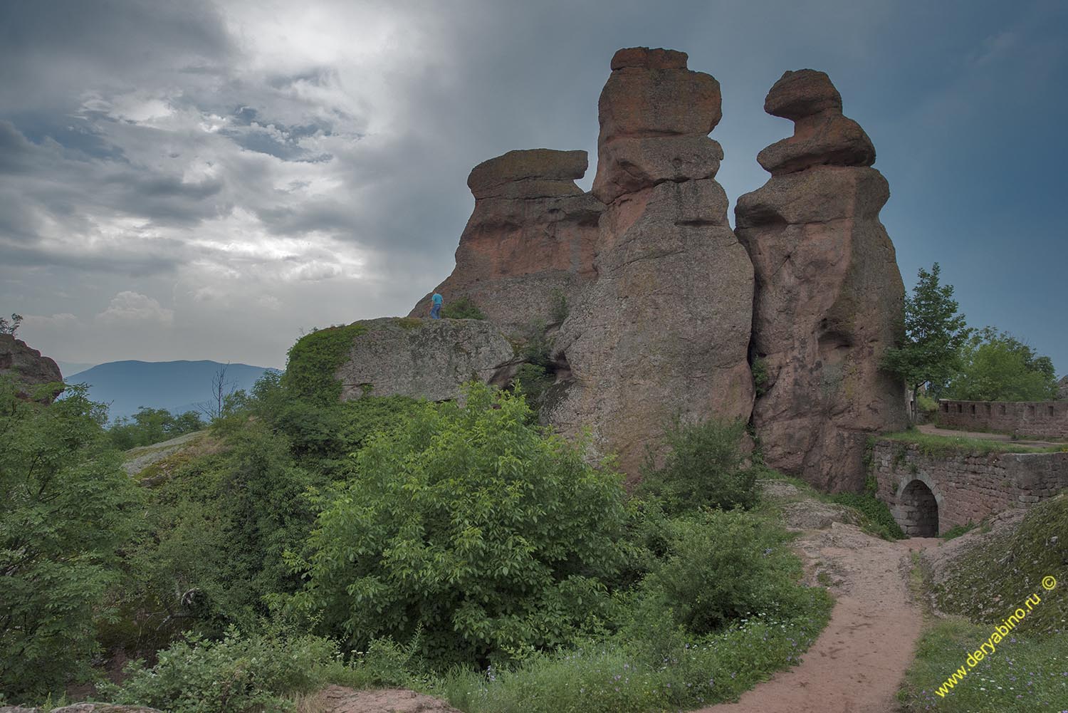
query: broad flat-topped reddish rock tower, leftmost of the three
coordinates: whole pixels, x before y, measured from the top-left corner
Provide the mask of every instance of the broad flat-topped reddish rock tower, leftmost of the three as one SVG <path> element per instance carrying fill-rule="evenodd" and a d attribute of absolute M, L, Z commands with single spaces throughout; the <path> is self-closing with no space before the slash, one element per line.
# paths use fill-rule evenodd
<path fill-rule="evenodd" d="M 508 334 L 559 321 L 554 304 L 574 304 L 594 278 L 597 219 L 603 205 L 575 185 L 584 151 L 509 151 L 468 177 L 474 212 L 460 235 L 456 268 L 435 288 L 445 304 L 466 297 Z M 410 316 L 429 314 L 429 295 Z"/>

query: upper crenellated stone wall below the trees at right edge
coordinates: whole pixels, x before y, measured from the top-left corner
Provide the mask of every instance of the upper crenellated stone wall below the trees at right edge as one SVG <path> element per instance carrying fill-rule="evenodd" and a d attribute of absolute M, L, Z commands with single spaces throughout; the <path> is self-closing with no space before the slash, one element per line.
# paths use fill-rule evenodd
<path fill-rule="evenodd" d="M 938 422 L 969 431 L 1068 438 L 1068 401 L 939 401 Z"/>

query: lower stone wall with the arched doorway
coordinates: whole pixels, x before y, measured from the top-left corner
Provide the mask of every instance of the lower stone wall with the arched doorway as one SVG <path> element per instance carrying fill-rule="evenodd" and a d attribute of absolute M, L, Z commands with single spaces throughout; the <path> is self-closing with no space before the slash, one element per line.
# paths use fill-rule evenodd
<path fill-rule="evenodd" d="M 915 444 L 880 439 L 873 448 L 870 467 L 879 499 L 912 536 L 941 534 L 1004 510 L 1031 507 L 1068 489 L 1068 452 L 925 453 Z M 931 500 L 937 506 L 937 532 L 927 533 L 923 530 Z"/>

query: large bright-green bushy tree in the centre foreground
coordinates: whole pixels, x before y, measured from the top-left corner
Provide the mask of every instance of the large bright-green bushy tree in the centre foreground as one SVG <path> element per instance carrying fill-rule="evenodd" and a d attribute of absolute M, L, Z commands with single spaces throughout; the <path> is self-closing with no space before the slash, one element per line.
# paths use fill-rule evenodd
<path fill-rule="evenodd" d="M 621 478 L 474 383 L 357 453 L 296 598 L 350 648 L 422 630 L 435 663 L 517 658 L 596 626 L 619 568 Z"/>

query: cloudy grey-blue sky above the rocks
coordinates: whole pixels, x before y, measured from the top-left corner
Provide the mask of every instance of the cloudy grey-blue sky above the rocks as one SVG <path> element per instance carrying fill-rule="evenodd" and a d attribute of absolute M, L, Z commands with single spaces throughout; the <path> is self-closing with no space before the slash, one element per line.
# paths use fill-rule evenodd
<path fill-rule="evenodd" d="M 452 272 L 476 164 L 582 149 L 588 188 L 633 46 L 719 79 L 732 205 L 792 130 L 768 89 L 827 72 L 906 286 L 940 263 L 970 324 L 1068 373 L 1061 0 L 3 0 L 0 314 L 64 363 L 284 367 Z"/>

